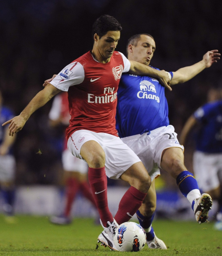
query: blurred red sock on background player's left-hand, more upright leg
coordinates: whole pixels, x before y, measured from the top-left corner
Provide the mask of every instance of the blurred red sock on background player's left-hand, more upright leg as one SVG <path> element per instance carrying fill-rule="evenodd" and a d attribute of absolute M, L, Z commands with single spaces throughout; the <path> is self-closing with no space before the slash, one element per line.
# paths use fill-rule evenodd
<path fill-rule="evenodd" d="M 76 193 L 78 192 L 80 183 L 78 179 L 68 178 L 66 180 L 66 191 L 65 191 L 65 216 L 69 217 L 72 203 L 75 199 Z"/>

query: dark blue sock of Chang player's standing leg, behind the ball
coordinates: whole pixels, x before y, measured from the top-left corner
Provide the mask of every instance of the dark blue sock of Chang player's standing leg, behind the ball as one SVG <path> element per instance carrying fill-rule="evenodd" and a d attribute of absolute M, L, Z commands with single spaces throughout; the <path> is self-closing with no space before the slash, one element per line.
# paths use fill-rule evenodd
<path fill-rule="evenodd" d="M 137 218 L 139 220 L 139 223 L 141 225 L 142 228 L 144 228 L 146 235 L 147 235 L 147 241 L 151 241 L 154 239 L 154 229 L 152 227 L 152 222 L 154 219 L 154 214 L 149 216 L 149 217 L 145 217 L 143 216 L 140 211 L 138 210 L 136 212 Z"/>

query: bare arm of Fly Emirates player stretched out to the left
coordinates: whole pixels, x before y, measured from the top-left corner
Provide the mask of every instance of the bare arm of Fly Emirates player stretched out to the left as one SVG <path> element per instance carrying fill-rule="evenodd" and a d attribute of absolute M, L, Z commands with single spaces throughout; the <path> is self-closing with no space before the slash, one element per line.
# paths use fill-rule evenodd
<path fill-rule="evenodd" d="M 48 84 L 43 90 L 36 94 L 36 96 L 30 101 L 30 103 L 24 108 L 20 115 L 13 117 L 11 120 L 6 121 L 2 124 L 10 124 L 8 126 L 9 135 L 13 136 L 14 133 L 19 132 L 26 121 L 29 119 L 31 114 L 40 107 L 44 106 L 53 96 L 59 93 L 61 90 L 57 89 L 52 84 Z"/>

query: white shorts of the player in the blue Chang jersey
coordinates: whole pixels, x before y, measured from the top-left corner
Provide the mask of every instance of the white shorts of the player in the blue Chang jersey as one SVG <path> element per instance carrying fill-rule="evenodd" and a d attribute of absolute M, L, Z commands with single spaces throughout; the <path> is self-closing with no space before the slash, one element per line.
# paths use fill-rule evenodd
<path fill-rule="evenodd" d="M 178 147 L 184 150 L 177 140 L 177 133 L 174 132 L 172 125 L 162 126 L 150 133 L 128 136 L 122 138 L 122 141 L 141 159 L 152 181 L 160 175 L 159 168 L 164 149 Z"/>

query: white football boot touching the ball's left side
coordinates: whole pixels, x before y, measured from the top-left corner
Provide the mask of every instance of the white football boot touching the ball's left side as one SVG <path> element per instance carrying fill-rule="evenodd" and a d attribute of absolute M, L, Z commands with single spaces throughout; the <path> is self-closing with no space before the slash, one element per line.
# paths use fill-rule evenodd
<path fill-rule="evenodd" d="M 113 242 L 113 235 L 114 235 L 114 231 L 116 230 L 118 223 L 116 222 L 115 219 L 113 219 L 113 222 L 110 223 L 109 221 L 107 222 L 108 224 L 108 227 L 104 227 L 103 226 L 103 223 L 101 222 L 101 219 L 100 219 L 100 223 L 103 227 L 103 231 L 102 233 L 98 236 L 98 243 L 100 242 L 101 245 L 103 246 L 108 246 L 110 248 L 110 250 L 114 250 L 114 251 L 117 251 L 117 248 L 116 246 L 114 245 L 114 242 Z"/>

